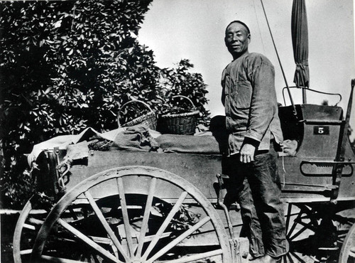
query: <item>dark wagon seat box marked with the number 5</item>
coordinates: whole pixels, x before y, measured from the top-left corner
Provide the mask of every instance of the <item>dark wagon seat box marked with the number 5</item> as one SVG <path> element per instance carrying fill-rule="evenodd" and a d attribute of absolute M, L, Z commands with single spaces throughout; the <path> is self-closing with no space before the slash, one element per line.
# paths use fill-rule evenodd
<path fill-rule="evenodd" d="M 318 192 L 316 189 L 319 189 L 324 195 L 324 190 L 330 190 L 335 184 L 332 162 L 335 161 L 337 151 L 342 146 L 339 134 L 344 127 L 343 110 L 337 106 L 316 104 L 296 104 L 295 109 L 297 118 L 293 114 L 292 106 L 278 108 L 284 144 L 297 143 L 294 154 L 280 153 L 284 156 L 281 171 L 284 174 L 283 190 L 300 190 L 296 195 L 302 195 L 308 190 Z M 349 139 L 346 140 L 344 147 L 344 161 L 355 161 Z M 352 166 L 345 165 L 338 198 L 354 199 L 352 173 Z M 293 194 L 288 193 L 288 196 Z"/>

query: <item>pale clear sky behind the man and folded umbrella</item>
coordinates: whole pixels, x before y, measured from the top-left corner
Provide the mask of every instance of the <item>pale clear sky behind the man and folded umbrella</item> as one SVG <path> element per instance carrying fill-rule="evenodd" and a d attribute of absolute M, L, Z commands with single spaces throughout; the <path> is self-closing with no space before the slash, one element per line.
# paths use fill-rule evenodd
<path fill-rule="evenodd" d="M 294 86 L 295 62 L 291 38 L 292 0 L 263 0 L 275 45 L 289 86 Z M 354 2 L 352 0 L 306 0 L 310 88 L 340 93 L 338 105 L 346 111 L 351 79 L 355 78 Z M 275 89 L 278 102 L 283 102 L 285 87 L 278 58 L 273 48 L 260 0 L 153 0 L 141 30 L 139 43 L 155 54 L 160 68 L 174 67 L 182 58 L 194 64 L 208 85 L 207 108 L 212 117 L 224 114 L 220 102 L 222 70 L 231 62 L 224 45 L 224 30 L 230 21 L 244 21 L 251 29 L 250 52 L 266 55 L 275 66 Z M 299 90 L 294 90 L 295 104 L 302 103 Z M 286 104 L 289 104 L 285 91 Z M 330 105 L 338 96 L 307 92 L 307 103 Z M 351 127 L 355 127 L 355 102 Z"/>

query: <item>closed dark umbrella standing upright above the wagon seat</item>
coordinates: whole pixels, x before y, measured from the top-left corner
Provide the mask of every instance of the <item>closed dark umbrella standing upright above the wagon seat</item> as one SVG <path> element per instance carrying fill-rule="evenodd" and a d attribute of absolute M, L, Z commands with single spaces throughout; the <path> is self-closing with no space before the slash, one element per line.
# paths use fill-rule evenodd
<path fill-rule="evenodd" d="M 308 68 L 308 28 L 305 0 L 293 1 L 291 33 L 293 56 L 296 63 L 293 82 L 295 82 L 296 86 L 310 87 L 310 70 Z"/>

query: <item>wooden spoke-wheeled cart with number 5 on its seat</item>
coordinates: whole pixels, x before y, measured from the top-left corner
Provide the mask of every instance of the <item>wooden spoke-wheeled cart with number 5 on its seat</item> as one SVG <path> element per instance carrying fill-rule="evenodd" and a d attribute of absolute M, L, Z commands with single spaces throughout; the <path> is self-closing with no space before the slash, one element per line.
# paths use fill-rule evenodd
<path fill-rule="evenodd" d="M 349 103 L 351 104 L 351 103 Z M 290 241 L 284 262 L 348 262 L 355 240 L 354 152 L 340 107 L 280 107 L 294 156 L 279 158 Z M 345 134 L 345 135 L 344 135 Z M 224 213 L 222 156 L 91 151 L 57 168 L 38 158 L 38 185 L 13 237 L 18 262 L 246 262 L 237 209 Z M 217 180 L 219 179 L 219 180 Z M 36 213 L 34 213 L 35 211 Z M 352 213 L 351 213 L 352 211 Z M 229 225 L 228 225 L 229 223 Z"/>

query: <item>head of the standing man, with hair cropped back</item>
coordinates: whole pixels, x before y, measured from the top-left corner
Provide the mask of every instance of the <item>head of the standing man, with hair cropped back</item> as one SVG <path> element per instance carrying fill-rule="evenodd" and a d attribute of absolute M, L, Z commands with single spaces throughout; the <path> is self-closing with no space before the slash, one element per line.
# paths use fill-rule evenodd
<path fill-rule="evenodd" d="M 246 53 L 250 38 L 250 31 L 245 23 L 241 21 L 232 21 L 226 27 L 224 43 L 226 43 L 229 53 L 231 53 L 233 58 L 236 59 Z"/>

